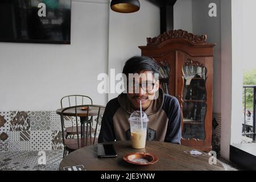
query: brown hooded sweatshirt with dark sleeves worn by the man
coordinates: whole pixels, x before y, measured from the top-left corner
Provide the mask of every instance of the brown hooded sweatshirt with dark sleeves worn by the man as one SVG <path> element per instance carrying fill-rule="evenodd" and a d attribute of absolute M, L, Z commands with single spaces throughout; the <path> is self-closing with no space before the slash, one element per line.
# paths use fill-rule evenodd
<path fill-rule="evenodd" d="M 98 143 L 130 140 L 129 117 L 135 111 L 126 93 L 121 93 L 106 105 L 102 117 Z M 159 97 L 152 100 L 144 112 L 149 118 L 147 140 L 180 144 L 181 110 L 177 99 L 159 89 Z"/>

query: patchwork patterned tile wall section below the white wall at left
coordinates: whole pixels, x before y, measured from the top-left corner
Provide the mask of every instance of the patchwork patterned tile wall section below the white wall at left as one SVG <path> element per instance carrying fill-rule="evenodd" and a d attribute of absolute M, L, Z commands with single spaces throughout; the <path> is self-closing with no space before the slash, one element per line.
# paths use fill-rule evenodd
<path fill-rule="evenodd" d="M 73 119 L 65 120 L 72 125 Z M 0 152 L 60 149 L 60 115 L 55 111 L 0 112 Z"/>

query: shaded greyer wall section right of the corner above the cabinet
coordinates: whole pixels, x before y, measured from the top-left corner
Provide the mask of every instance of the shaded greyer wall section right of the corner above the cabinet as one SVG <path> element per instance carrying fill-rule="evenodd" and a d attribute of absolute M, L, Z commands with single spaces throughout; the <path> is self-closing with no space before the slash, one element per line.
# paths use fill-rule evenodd
<path fill-rule="evenodd" d="M 182 1 L 182 0 L 181 0 Z M 217 17 L 208 15 L 209 3 L 216 3 Z M 207 42 L 216 43 L 213 61 L 213 112 L 221 113 L 221 32 L 220 0 L 192 0 L 193 33 L 207 34 Z"/>

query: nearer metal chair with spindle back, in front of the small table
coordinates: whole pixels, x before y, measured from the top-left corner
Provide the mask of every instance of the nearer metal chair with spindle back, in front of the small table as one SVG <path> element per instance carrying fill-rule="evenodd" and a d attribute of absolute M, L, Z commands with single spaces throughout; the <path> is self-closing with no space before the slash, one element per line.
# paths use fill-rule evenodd
<path fill-rule="evenodd" d="M 82 107 L 86 110 L 82 111 Z M 65 111 L 73 110 L 73 117 L 76 121 L 76 137 L 67 138 L 64 134 L 64 116 Z M 104 114 L 105 106 L 101 105 L 79 105 L 65 107 L 60 114 L 61 118 L 61 130 L 64 144 L 63 158 L 67 155 L 67 152 L 75 151 L 81 147 L 92 145 L 98 142 L 98 134 L 100 133 L 99 123 L 101 122 L 102 115 Z M 81 121 L 81 129 L 79 133 L 79 122 L 78 117 Z M 89 119 L 90 117 L 90 119 Z M 86 127 L 86 129 L 85 129 Z M 88 128 L 89 127 L 89 128 Z M 93 134 L 92 134 L 93 131 Z"/>

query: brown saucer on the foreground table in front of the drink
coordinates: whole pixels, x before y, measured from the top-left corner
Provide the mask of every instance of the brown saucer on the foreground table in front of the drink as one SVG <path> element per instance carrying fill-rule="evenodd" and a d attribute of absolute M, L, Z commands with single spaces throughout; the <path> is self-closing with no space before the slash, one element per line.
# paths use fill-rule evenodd
<path fill-rule="evenodd" d="M 133 154 L 127 154 L 123 157 L 128 163 L 137 164 L 137 165 L 149 165 L 158 162 L 158 157 L 154 154 L 137 152 Z"/>

